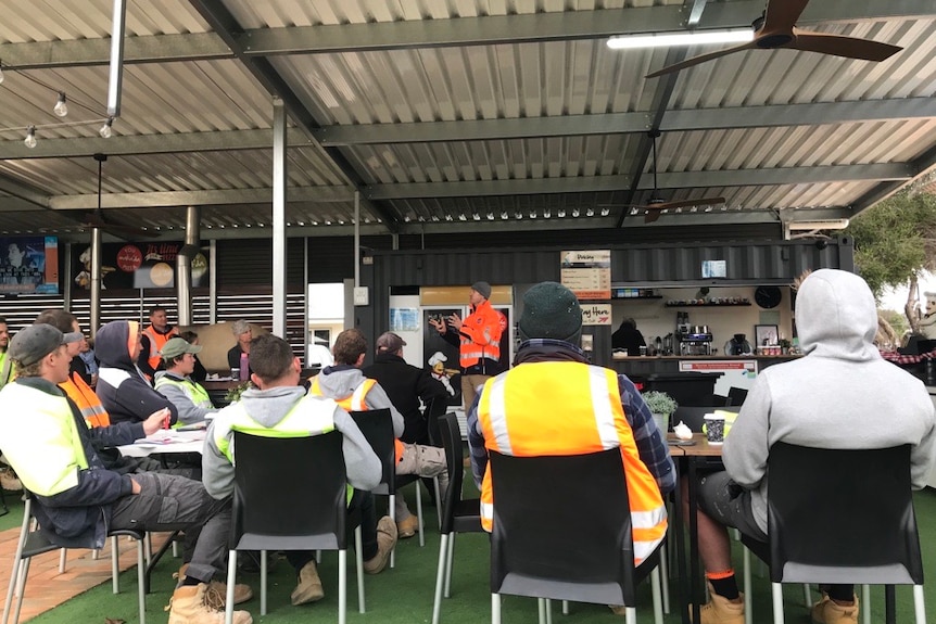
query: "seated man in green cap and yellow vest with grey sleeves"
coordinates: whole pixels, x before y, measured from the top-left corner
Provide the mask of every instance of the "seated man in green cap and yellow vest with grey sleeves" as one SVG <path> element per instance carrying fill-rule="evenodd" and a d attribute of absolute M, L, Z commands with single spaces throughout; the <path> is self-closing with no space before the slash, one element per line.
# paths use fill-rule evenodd
<path fill-rule="evenodd" d="M 160 352 L 165 370 L 156 371 L 155 390 L 176 406 L 179 424 L 204 422 L 207 415 L 217 411 L 208 391 L 191 378 L 198 361 L 195 354 L 200 351 L 199 345 L 172 338 Z"/>

